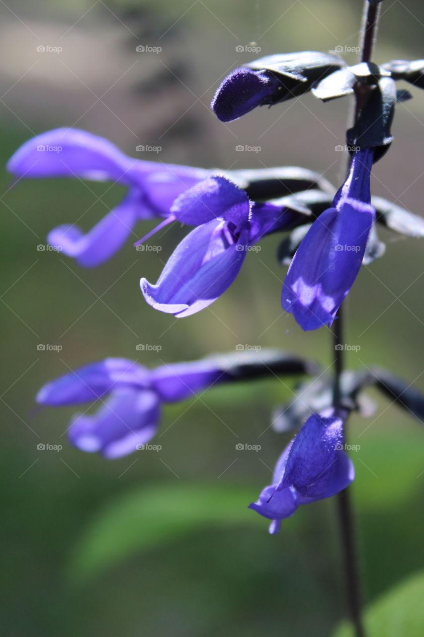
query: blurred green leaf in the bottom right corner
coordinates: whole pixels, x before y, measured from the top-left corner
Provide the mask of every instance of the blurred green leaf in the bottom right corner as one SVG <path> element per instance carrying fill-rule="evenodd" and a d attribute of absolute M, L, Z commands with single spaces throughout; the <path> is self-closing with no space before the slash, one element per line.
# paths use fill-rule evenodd
<path fill-rule="evenodd" d="M 421 637 L 424 626 L 424 571 L 403 580 L 365 610 L 365 632 L 372 637 Z M 354 637 L 343 622 L 333 637 Z"/>

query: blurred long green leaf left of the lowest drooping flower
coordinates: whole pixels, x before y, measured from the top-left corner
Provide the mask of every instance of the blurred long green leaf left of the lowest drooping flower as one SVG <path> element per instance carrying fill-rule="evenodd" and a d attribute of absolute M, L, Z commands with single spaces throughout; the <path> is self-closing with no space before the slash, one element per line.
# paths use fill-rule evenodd
<path fill-rule="evenodd" d="M 69 565 L 69 578 L 87 580 L 131 555 L 169 543 L 205 527 L 264 520 L 248 510 L 257 487 L 222 483 L 166 483 L 132 490 L 99 511 L 83 532 Z"/>

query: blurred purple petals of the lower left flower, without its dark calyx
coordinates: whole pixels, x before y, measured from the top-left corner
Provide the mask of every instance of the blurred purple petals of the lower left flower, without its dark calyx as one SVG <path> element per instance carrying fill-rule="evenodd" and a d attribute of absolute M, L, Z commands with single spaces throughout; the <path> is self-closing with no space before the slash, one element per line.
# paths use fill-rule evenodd
<path fill-rule="evenodd" d="M 101 401 L 93 415 L 71 420 L 69 441 L 108 459 L 145 445 L 157 431 L 161 403 L 193 396 L 228 376 L 213 360 L 164 365 L 152 371 L 127 359 L 106 359 L 76 369 L 39 390 L 36 401 L 66 406 Z"/>

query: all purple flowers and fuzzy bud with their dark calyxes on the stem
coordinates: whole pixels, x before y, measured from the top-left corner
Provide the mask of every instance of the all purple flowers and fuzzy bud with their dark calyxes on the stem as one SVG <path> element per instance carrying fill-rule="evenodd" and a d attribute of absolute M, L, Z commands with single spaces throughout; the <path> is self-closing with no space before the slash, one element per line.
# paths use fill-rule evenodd
<path fill-rule="evenodd" d="M 223 122 L 309 90 L 323 101 L 360 92 L 364 99 L 347 131 L 348 174 L 337 192 L 320 175 L 301 168 L 231 172 L 134 160 L 110 141 L 65 128 L 27 141 L 11 157 L 8 170 L 17 179 L 76 177 L 127 188 L 123 201 L 87 234 L 74 224 L 50 232 L 49 243 L 81 266 L 107 261 L 134 234 L 138 221 L 160 222 L 136 245 L 171 222 L 192 227 L 157 283 L 145 278 L 140 282 L 150 306 L 176 317 L 192 315 L 218 299 L 259 241 L 269 234 L 291 233 L 285 239 L 283 262 L 288 260 L 290 267 L 281 306 L 304 331 L 331 326 L 362 263 L 383 254 L 375 222 L 424 236 L 422 222 L 395 204 L 372 199 L 370 186 L 372 164 L 392 143 L 395 103 L 408 99 L 406 92 L 396 92 L 395 82 L 407 80 L 423 88 L 423 69 L 423 61 L 399 60 L 348 67 L 337 55 L 313 51 L 269 55 L 223 80 L 211 104 Z M 106 359 L 47 383 L 37 401 L 44 406 L 100 401 L 94 415 L 74 416 L 69 440 L 80 450 L 112 459 L 148 443 L 164 403 L 188 399 L 217 383 L 315 373 L 310 362 L 281 353 L 256 361 L 211 357 L 153 370 L 127 359 Z M 423 401 L 416 393 L 381 371 L 373 376 L 414 415 L 422 416 Z M 278 533 L 281 520 L 300 505 L 333 496 L 353 480 L 343 426 L 348 411 L 358 408 L 357 394 L 369 379 L 364 374 L 339 378 L 339 401 L 328 383 L 322 383 L 320 396 L 309 387 L 309 402 L 302 400 L 300 408 L 295 403 L 290 410 L 286 420 L 295 420 L 295 427 L 307 415 L 306 422 L 281 454 L 272 484 L 250 505 L 272 520 L 271 533 Z M 318 408 L 311 405 L 317 399 Z"/>

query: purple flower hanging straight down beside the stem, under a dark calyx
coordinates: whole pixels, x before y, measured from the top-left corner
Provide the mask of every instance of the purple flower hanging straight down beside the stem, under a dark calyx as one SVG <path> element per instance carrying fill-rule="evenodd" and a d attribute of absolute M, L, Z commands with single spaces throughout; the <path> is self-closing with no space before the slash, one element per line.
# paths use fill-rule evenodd
<path fill-rule="evenodd" d="M 330 326 L 357 278 L 375 219 L 372 155 L 372 148 L 355 153 L 332 207 L 313 223 L 288 269 L 281 304 L 304 330 Z"/>

